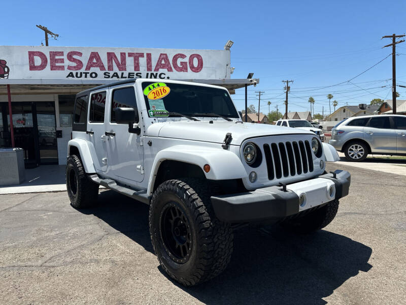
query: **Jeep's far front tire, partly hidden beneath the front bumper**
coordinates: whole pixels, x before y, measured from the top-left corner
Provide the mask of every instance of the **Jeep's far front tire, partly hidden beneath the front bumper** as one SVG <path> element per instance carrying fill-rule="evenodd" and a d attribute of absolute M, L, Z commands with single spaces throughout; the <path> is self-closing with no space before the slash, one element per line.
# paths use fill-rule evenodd
<path fill-rule="evenodd" d="M 302 217 L 285 220 L 281 225 L 295 233 L 312 233 L 327 226 L 334 219 L 338 209 L 339 200 L 336 199 Z"/>

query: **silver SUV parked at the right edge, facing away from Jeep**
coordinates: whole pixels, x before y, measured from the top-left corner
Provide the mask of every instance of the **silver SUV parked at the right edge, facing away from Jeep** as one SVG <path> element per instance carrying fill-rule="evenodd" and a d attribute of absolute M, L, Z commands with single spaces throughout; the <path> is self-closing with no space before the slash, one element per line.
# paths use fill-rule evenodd
<path fill-rule="evenodd" d="M 406 156 L 406 116 L 366 115 L 342 120 L 328 142 L 348 161 L 360 162 L 368 154 Z"/>

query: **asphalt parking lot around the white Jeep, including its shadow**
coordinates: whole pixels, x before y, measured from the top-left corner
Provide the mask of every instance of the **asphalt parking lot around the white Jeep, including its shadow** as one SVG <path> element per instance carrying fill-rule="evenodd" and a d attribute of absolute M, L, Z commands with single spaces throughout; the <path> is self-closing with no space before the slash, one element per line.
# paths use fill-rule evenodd
<path fill-rule="evenodd" d="M 406 176 L 335 168 L 352 185 L 329 226 L 238 230 L 225 272 L 192 288 L 160 269 L 145 204 L 103 191 L 79 211 L 66 192 L 0 195 L 0 303 L 406 303 Z"/>

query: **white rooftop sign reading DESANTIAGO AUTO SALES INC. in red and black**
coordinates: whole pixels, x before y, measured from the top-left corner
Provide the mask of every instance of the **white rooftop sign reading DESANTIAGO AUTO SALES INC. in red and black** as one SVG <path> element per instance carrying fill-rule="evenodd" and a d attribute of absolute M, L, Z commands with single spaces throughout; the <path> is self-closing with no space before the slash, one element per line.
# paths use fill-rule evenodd
<path fill-rule="evenodd" d="M 230 51 L 0 46 L 0 78 L 229 79 Z"/>

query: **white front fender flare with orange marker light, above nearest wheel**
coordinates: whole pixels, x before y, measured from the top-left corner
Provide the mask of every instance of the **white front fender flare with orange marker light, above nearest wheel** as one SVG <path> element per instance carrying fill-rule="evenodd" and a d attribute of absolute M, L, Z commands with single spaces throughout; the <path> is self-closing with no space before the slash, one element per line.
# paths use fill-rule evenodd
<path fill-rule="evenodd" d="M 206 178 L 212 180 L 239 179 L 247 176 L 240 158 L 229 150 L 175 145 L 162 149 L 156 154 L 148 181 L 148 195 L 152 195 L 156 174 L 160 164 L 165 160 L 197 165 L 205 173 Z M 208 173 L 203 170 L 205 164 L 210 165 Z"/>

